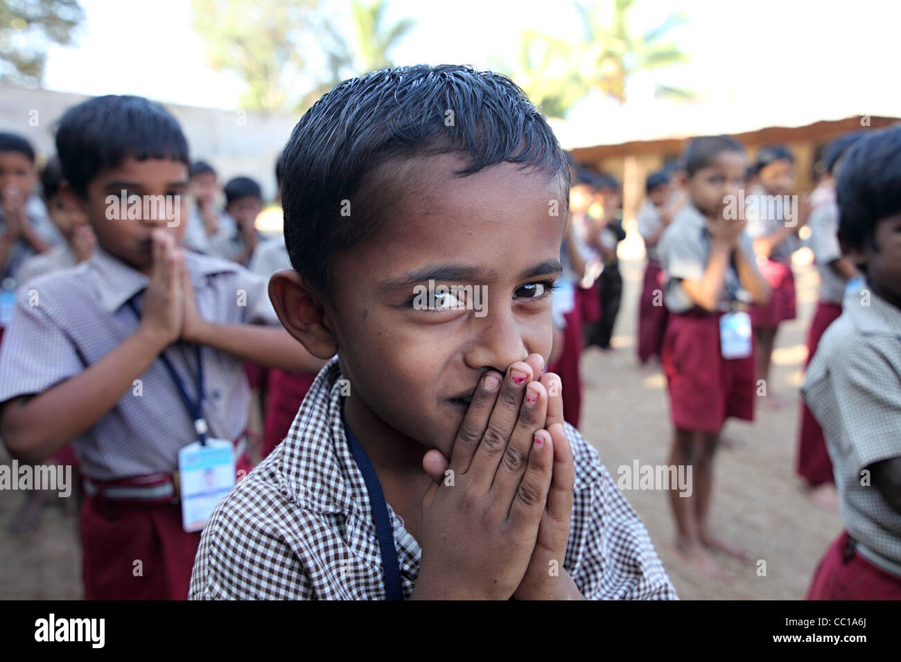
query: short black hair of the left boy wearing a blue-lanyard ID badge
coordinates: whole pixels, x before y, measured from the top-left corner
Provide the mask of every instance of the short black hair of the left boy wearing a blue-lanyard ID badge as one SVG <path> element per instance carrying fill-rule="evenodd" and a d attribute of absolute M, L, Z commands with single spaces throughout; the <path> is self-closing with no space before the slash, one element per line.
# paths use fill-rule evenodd
<path fill-rule="evenodd" d="M 56 143 L 63 177 L 82 196 L 97 173 L 129 157 L 191 163 L 176 119 L 142 96 L 96 96 L 72 106 L 59 120 Z"/>

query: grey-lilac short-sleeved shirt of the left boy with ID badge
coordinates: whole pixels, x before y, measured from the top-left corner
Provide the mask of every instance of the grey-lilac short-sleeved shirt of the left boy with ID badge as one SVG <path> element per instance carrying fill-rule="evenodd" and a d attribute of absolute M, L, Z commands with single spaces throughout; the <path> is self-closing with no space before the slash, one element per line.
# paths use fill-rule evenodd
<path fill-rule="evenodd" d="M 185 251 L 197 310 L 209 322 L 277 325 L 267 279 L 232 262 Z M 23 287 L 0 345 L 0 403 L 41 394 L 104 358 L 138 327 L 126 304 L 140 309 L 150 279 L 97 248 L 75 268 Z M 196 398 L 193 345 L 165 349 L 188 394 Z M 250 387 L 241 360 L 203 350 L 204 416 L 210 435 L 237 439 L 247 426 Z M 196 440 L 194 422 L 159 359 L 122 394 L 113 409 L 74 440 L 86 476 L 115 480 L 172 473 L 178 450 Z"/>

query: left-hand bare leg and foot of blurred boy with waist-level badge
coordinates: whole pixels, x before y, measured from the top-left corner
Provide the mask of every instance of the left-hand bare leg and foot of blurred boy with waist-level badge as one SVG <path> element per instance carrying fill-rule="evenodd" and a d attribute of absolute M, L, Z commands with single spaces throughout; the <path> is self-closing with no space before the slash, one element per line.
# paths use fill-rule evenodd
<path fill-rule="evenodd" d="M 701 440 L 696 431 L 677 428 L 673 434 L 673 447 L 669 456 L 669 464 L 676 467 L 693 467 L 690 496 L 680 496 L 678 485 L 670 485 L 668 490 L 669 505 L 672 507 L 673 517 L 676 520 L 675 548 L 678 556 L 698 574 L 716 580 L 726 580 L 730 577 L 717 566 L 704 547 L 699 522 L 697 521 L 697 465 L 700 460 L 702 443 L 703 440 Z"/>

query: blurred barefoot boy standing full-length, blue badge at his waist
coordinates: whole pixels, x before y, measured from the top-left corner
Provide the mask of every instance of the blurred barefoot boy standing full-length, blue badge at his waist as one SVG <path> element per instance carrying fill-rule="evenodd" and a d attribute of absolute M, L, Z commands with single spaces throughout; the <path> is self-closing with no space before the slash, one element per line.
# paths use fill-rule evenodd
<path fill-rule="evenodd" d="M 742 146 L 724 136 L 696 138 L 682 162 L 688 200 L 659 245 L 670 313 L 661 363 L 673 424 L 669 464 L 692 467 L 692 491 L 679 494 L 670 486 L 669 501 L 678 554 L 696 572 L 725 579 L 709 549 L 742 560 L 750 556 L 710 531 L 714 452 L 726 418 L 754 418 L 754 346 L 741 301 L 764 304 L 769 287 L 742 214 L 728 211 L 744 184 Z"/>

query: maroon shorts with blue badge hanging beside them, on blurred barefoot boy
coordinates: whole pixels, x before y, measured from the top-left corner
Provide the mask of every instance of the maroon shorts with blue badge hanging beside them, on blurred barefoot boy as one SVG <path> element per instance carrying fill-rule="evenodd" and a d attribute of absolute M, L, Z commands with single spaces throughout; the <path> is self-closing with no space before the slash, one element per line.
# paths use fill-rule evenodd
<path fill-rule="evenodd" d="M 723 358 L 722 313 L 670 314 L 660 362 L 669 387 L 669 417 L 683 430 L 718 432 L 726 418 L 754 420 L 754 354 Z"/>

